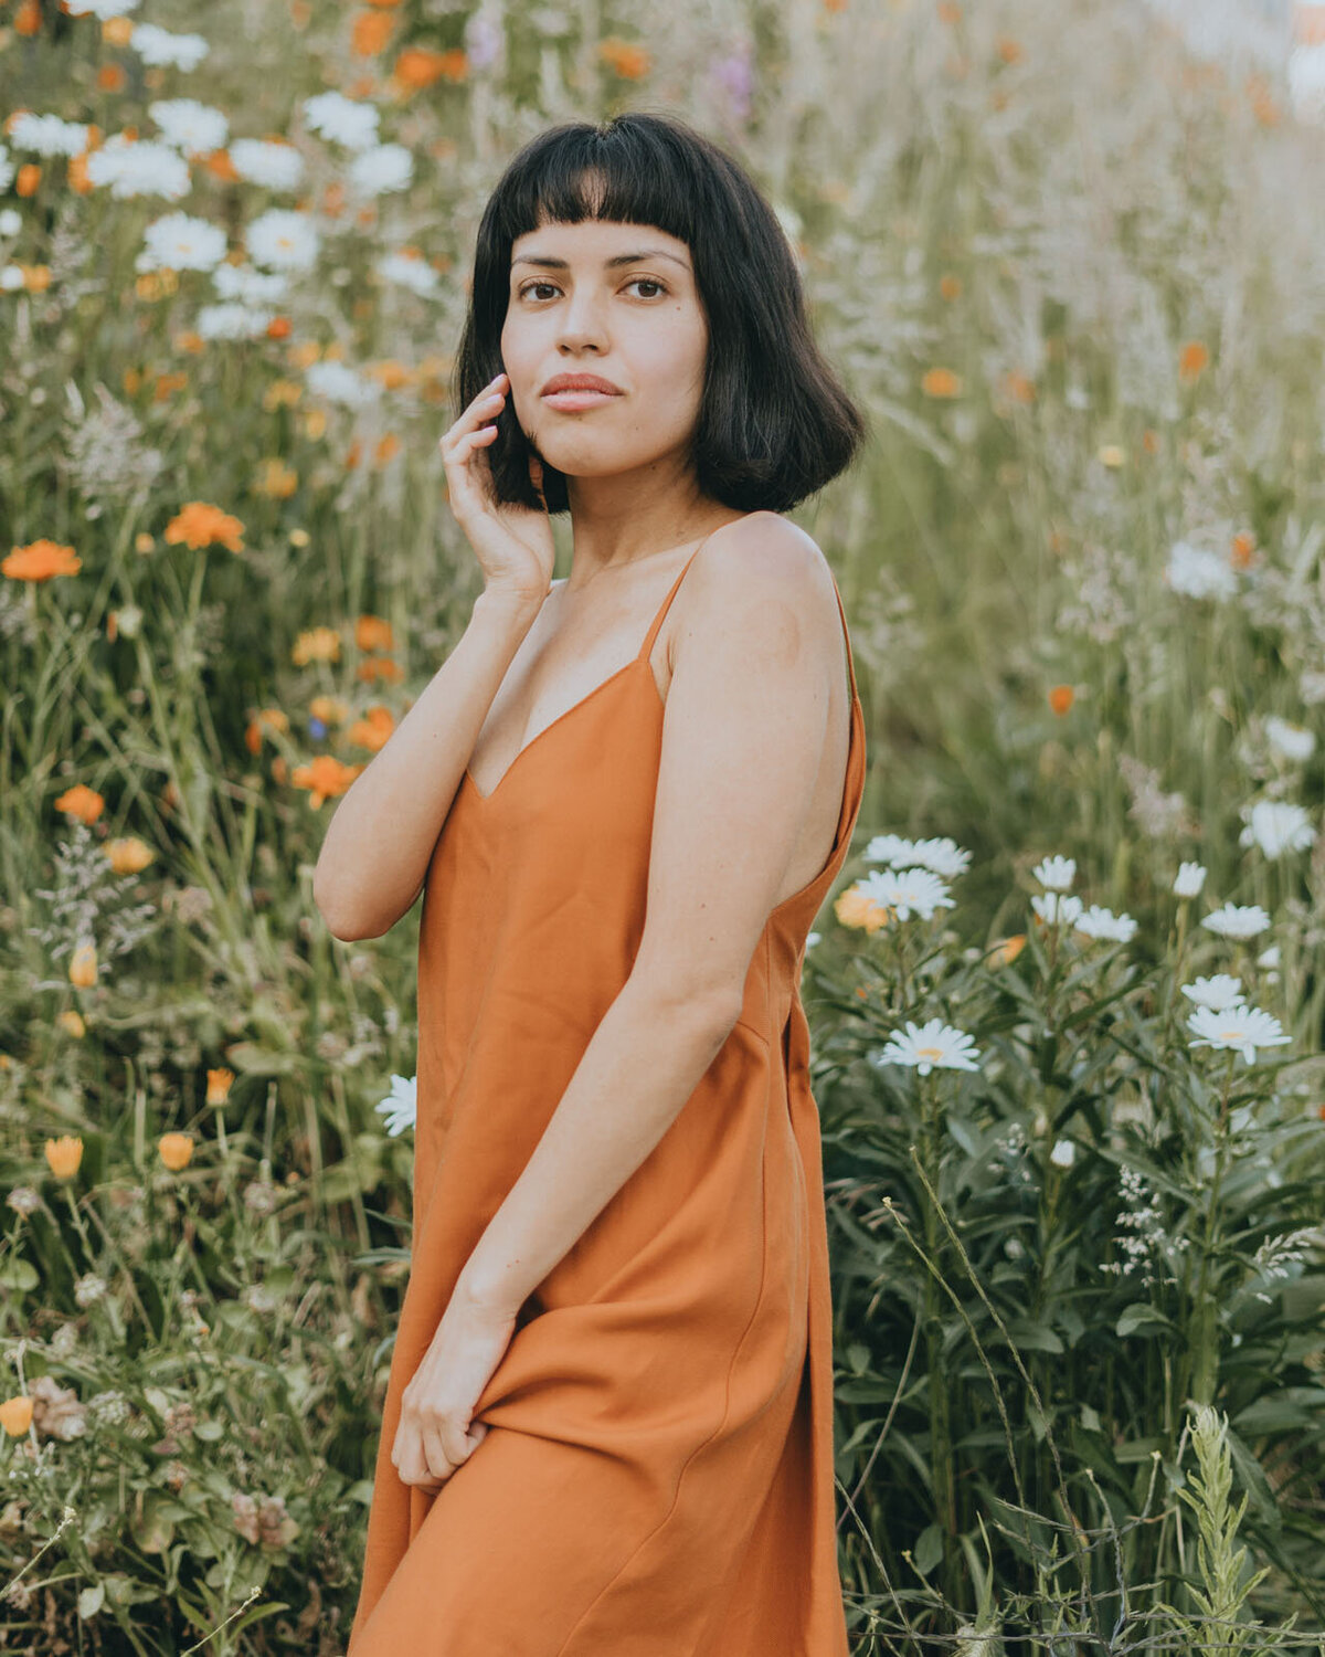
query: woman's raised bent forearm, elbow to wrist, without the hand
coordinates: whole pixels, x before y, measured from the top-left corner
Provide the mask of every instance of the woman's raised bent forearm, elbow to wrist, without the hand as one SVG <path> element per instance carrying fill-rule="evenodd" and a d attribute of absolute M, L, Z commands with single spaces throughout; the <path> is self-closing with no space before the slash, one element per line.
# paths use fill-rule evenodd
<path fill-rule="evenodd" d="M 460 641 L 341 799 L 313 872 L 313 901 L 336 938 L 379 938 L 412 908 L 492 698 L 540 601 L 480 593 Z"/>

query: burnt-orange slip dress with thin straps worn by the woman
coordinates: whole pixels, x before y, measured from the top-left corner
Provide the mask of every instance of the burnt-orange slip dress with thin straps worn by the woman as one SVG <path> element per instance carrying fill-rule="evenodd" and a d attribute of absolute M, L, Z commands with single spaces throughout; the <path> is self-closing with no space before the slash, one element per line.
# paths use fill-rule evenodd
<path fill-rule="evenodd" d="M 696 553 L 633 661 L 492 794 L 465 771 L 429 862 L 411 1276 L 348 1657 L 846 1657 L 800 968 L 865 784 L 850 635 L 833 848 L 768 915 L 740 1019 L 520 1309 L 474 1408 L 482 1443 L 432 1495 L 391 1461 L 401 1392 L 639 948 L 664 709 L 649 655 Z"/>

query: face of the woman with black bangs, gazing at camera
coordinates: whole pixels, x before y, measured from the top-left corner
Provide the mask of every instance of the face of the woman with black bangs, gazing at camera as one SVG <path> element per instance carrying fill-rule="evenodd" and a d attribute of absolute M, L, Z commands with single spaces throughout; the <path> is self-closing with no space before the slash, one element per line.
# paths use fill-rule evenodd
<path fill-rule="evenodd" d="M 513 242 L 502 365 L 520 429 L 568 477 L 681 461 L 707 350 L 691 250 L 674 235 L 586 219 Z M 558 406 L 543 394 L 558 374 L 598 374 L 616 394 Z"/>

